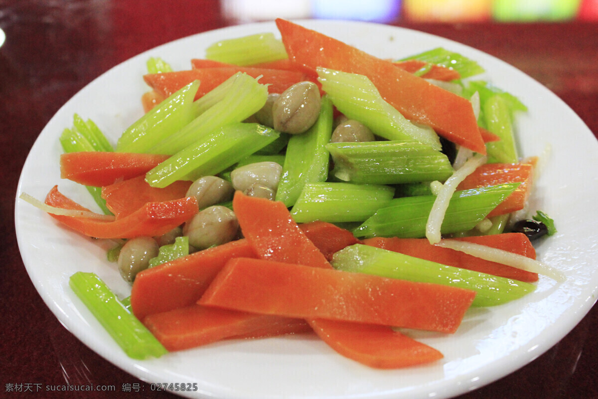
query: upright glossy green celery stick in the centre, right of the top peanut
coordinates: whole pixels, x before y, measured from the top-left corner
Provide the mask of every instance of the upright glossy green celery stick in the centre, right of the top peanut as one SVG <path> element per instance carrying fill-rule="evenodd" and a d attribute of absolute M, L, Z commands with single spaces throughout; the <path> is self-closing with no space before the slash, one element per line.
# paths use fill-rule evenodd
<path fill-rule="evenodd" d="M 329 153 L 326 148 L 332 136 L 332 102 L 322 96 L 318 120 L 309 130 L 292 135 L 286 145 L 285 165 L 276 191 L 276 200 L 292 206 L 304 185 L 328 178 Z"/>

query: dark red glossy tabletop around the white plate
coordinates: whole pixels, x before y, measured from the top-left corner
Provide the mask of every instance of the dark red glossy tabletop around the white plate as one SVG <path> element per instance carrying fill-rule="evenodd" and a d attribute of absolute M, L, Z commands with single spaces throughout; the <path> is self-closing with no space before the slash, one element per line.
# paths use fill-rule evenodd
<path fill-rule="evenodd" d="M 219 2 L 0 2 L 0 397 L 65 398 L 46 385 L 112 385 L 85 398 L 173 397 L 99 357 L 39 297 L 17 248 L 14 198 L 30 147 L 72 95 L 112 66 L 156 45 L 231 22 Z M 408 23 L 497 56 L 553 90 L 598 135 L 598 23 Z M 563 132 L 565 133 L 565 132 Z M 460 398 L 598 397 L 598 310 L 532 363 Z M 29 392 L 13 392 L 16 390 Z"/>

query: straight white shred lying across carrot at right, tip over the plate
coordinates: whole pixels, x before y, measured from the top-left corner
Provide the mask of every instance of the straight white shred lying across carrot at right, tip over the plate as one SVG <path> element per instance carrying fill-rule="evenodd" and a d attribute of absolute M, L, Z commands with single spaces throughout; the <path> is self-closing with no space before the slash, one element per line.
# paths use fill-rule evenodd
<path fill-rule="evenodd" d="M 527 272 L 538 273 L 539 275 L 550 277 L 557 282 L 565 281 L 565 276 L 559 270 L 535 259 L 528 258 L 524 255 L 514 254 L 505 251 L 504 249 L 451 239 L 443 239 L 436 243 L 436 245 L 465 252 L 466 254 L 484 260 L 506 264 L 507 266 L 516 267 L 517 269 L 526 270 Z"/>

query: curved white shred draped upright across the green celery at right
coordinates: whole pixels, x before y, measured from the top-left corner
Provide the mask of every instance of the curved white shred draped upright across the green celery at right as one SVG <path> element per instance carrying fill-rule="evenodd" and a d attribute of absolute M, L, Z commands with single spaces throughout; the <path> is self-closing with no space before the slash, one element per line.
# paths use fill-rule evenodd
<path fill-rule="evenodd" d="M 440 241 L 440 228 L 443 224 L 444 214 L 449 208 L 449 201 L 453 196 L 457 185 L 463 181 L 468 175 L 474 172 L 478 166 L 486 163 L 487 157 L 481 154 L 475 154 L 465 165 L 455 170 L 453 175 L 444 182 L 443 187 L 438 192 L 432 210 L 428 215 L 428 223 L 426 223 L 426 238 L 432 244 Z"/>

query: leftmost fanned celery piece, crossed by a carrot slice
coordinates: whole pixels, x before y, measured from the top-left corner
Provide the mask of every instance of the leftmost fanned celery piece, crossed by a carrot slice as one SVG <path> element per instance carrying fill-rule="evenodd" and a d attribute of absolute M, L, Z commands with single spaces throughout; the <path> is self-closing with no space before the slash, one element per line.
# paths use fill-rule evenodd
<path fill-rule="evenodd" d="M 72 129 L 63 130 L 59 141 L 65 153 L 75 153 L 78 151 L 114 151 L 112 145 L 96 124 L 90 119 L 84 121 L 77 114 L 73 116 Z M 106 207 L 106 200 L 102 198 L 102 188 L 86 186 L 86 189 L 91 194 L 97 206 L 102 209 L 102 212 L 106 215 L 112 215 L 112 212 Z"/>

